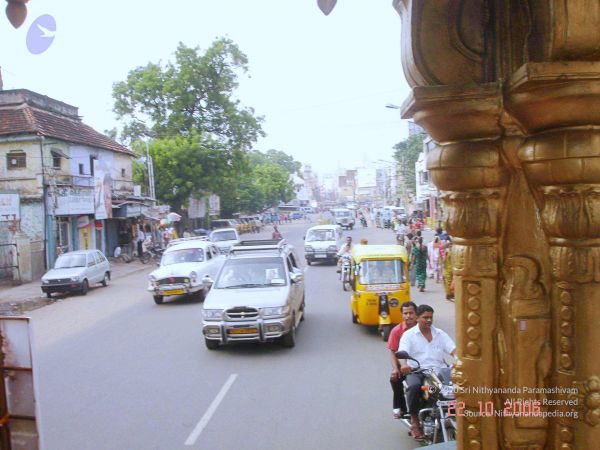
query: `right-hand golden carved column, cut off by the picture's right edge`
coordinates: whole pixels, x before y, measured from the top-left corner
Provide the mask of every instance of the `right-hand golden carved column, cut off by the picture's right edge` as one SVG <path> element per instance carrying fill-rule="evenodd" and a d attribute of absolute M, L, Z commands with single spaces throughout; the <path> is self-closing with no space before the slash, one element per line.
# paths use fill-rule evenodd
<path fill-rule="evenodd" d="M 568 82 L 564 80 L 568 79 Z M 530 134 L 518 156 L 550 244 L 552 385 L 576 393 L 551 420 L 552 448 L 600 442 L 600 63 L 532 63 L 509 84 L 507 107 Z"/>

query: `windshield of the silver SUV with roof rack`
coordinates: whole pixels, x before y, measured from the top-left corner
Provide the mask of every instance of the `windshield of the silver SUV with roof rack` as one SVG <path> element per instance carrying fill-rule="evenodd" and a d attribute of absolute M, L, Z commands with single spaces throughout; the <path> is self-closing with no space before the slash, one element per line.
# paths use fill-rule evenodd
<path fill-rule="evenodd" d="M 285 268 L 281 258 L 243 258 L 225 262 L 216 280 L 217 289 L 284 286 Z"/>

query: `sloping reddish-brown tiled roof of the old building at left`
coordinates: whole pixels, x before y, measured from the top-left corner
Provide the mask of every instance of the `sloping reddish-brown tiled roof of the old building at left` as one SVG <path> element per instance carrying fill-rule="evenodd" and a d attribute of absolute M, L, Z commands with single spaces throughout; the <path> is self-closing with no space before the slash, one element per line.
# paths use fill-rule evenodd
<path fill-rule="evenodd" d="M 79 119 L 43 111 L 29 105 L 0 108 L 0 136 L 26 133 L 135 155 L 127 147 L 97 132 Z"/>

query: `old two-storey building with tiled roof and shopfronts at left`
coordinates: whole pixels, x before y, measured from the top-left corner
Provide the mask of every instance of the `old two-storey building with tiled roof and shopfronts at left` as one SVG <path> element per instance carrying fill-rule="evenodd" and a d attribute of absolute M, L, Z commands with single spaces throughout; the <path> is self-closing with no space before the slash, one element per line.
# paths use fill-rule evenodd
<path fill-rule="evenodd" d="M 134 157 L 84 124 L 75 106 L 26 89 L 0 91 L 0 194 L 18 194 L 20 206 L 18 219 L 0 222 L 0 243 L 7 249 L 19 239 L 29 244 L 19 251 L 30 259 L 30 266 L 21 263 L 24 280 L 62 252 L 110 253 L 117 216 L 131 215 L 119 203 L 142 203 L 133 195 Z"/>

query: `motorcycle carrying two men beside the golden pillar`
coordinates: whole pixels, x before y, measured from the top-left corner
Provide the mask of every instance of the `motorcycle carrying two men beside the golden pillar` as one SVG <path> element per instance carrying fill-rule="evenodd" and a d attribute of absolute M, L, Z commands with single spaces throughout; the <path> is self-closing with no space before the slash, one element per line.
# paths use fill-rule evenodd
<path fill-rule="evenodd" d="M 456 395 L 450 378 L 450 367 L 440 369 L 421 368 L 421 364 L 411 358 L 405 351 L 396 352 L 398 359 L 410 359 L 417 363 L 412 373 L 424 375 L 421 388 L 422 407 L 419 410 L 419 425 L 423 430 L 425 445 L 433 445 L 440 442 L 456 440 L 456 418 L 448 415 L 448 408 L 454 407 Z M 404 381 L 404 392 L 406 396 L 407 384 Z M 408 404 L 408 398 L 406 398 Z M 410 415 L 400 418 L 400 422 L 411 429 Z"/>

